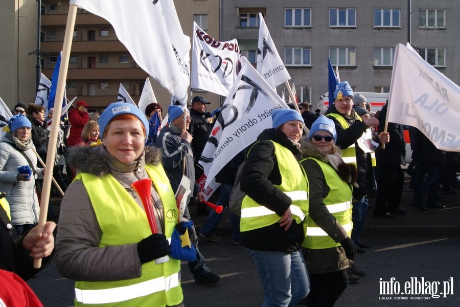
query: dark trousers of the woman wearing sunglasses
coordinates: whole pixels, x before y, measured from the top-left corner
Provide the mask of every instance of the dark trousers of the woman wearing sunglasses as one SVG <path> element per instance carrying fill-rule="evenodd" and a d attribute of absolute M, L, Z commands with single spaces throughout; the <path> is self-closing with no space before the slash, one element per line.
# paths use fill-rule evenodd
<path fill-rule="evenodd" d="M 310 275 L 307 306 L 333 306 L 348 286 L 347 270 Z"/>

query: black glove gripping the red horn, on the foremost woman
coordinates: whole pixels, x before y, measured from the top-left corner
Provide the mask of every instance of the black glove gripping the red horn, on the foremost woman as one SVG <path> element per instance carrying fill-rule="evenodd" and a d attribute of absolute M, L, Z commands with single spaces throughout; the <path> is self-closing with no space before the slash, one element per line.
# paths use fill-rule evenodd
<path fill-rule="evenodd" d="M 169 242 L 161 233 L 152 234 L 137 243 L 137 254 L 142 264 L 169 254 Z"/>

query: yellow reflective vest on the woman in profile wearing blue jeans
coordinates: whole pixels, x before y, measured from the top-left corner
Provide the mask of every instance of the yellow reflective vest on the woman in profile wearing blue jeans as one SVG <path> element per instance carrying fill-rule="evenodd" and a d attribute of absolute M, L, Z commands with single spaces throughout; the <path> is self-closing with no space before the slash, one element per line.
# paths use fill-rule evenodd
<path fill-rule="evenodd" d="M 293 153 L 277 142 L 274 145 L 275 156 L 281 174 L 281 185 L 274 185 L 288 195 L 292 204 L 291 213 L 297 224 L 300 224 L 308 213 L 308 182 L 300 164 Z M 240 230 L 249 231 L 277 223 L 280 216 L 267 207 L 259 205 L 248 195 L 241 204 Z"/>

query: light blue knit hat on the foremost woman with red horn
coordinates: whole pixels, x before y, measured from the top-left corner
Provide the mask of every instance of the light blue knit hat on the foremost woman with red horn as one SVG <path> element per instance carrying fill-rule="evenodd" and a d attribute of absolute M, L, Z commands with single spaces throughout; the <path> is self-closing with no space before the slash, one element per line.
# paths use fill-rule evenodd
<path fill-rule="evenodd" d="M 99 130 L 101 131 L 100 138 L 104 137 L 105 128 L 107 128 L 109 122 L 116 116 L 121 114 L 132 114 L 135 117 L 139 118 L 142 124 L 145 127 L 146 138 L 149 135 L 149 122 L 147 121 L 147 117 L 141 111 L 141 109 L 131 103 L 126 102 L 112 102 L 110 103 L 107 108 L 102 112 L 101 116 L 99 117 L 98 124 Z"/>

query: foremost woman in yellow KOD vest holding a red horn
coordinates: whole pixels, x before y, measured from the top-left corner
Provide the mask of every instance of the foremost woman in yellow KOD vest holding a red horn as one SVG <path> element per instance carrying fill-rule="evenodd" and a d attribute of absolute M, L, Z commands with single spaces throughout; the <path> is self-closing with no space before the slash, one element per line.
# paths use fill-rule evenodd
<path fill-rule="evenodd" d="M 61 203 L 57 268 L 76 280 L 77 306 L 182 305 L 180 261 L 167 256 L 178 209 L 158 149 L 144 145 L 147 118 L 136 106 L 116 102 L 98 123 L 102 144 L 69 152 L 77 176 Z M 154 234 L 131 187 L 147 178 L 152 184 L 143 192 L 152 199 Z"/>

